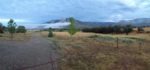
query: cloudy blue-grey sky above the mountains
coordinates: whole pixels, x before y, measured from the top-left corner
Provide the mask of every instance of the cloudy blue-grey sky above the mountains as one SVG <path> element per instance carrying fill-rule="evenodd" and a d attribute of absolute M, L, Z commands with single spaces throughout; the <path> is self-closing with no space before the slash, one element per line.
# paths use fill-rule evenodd
<path fill-rule="evenodd" d="M 44 23 L 74 17 L 82 21 L 150 18 L 150 0 L 0 0 L 0 22 Z"/>

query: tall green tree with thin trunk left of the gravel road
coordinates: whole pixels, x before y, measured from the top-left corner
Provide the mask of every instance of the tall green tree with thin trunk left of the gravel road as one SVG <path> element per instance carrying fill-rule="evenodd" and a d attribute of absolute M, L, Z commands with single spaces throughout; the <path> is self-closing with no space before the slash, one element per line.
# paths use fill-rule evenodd
<path fill-rule="evenodd" d="M 13 39 L 13 35 L 16 32 L 17 24 L 14 22 L 13 19 L 10 19 L 8 22 L 8 32 L 10 33 L 11 39 Z"/>

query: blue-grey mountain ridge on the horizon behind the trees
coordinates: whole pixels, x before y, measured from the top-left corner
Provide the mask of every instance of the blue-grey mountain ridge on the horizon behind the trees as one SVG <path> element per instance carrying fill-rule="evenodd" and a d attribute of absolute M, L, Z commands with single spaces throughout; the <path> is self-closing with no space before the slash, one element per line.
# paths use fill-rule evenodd
<path fill-rule="evenodd" d="M 46 23 L 55 24 L 55 23 L 64 23 L 69 22 L 69 18 L 59 19 L 59 20 L 51 20 Z M 136 27 L 150 26 L 150 18 L 138 18 L 134 20 L 122 20 L 120 22 L 85 22 L 75 19 L 75 26 L 78 29 L 83 28 L 93 28 L 93 27 L 101 27 L 101 26 L 113 26 L 113 25 L 127 25 L 130 24 Z M 68 28 L 68 26 L 64 26 L 62 28 Z"/>

